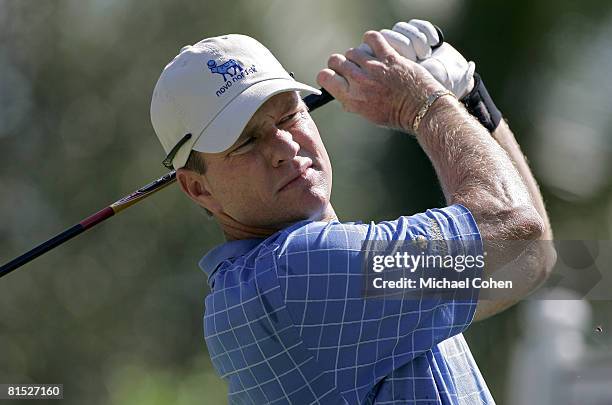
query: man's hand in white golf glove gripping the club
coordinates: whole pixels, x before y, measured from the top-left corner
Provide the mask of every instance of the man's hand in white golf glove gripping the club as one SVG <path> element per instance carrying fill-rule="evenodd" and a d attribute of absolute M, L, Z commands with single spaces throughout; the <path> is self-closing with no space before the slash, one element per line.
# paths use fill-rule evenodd
<path fill-rule="evenodd" d="M 444 87 L 461 99 L 474 88 L 474 62 L 468 62 L 448 43 L 432 51 L 440 42 L 436 28 L 429 21 L 398 22 L 392 30 L 381 30 L 387 42 L 403 57 L 419 63 Z M 365 44 L 358 47 L 372 51 Z"/>

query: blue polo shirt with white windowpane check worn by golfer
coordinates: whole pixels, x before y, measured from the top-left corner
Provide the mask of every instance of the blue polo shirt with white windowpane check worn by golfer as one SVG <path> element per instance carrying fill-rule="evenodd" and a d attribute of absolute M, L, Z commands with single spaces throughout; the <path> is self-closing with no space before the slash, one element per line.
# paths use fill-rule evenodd
<path fill-rule="evenodd" d="M 471 213 L 452 205 L 378 224 L 301 221 L 206 254 L 204 334 L 229 402 L 494 404 L 462 335 L 477 297 L 363 298 L 364 241 L 423 238 L 482 249 Z"/>

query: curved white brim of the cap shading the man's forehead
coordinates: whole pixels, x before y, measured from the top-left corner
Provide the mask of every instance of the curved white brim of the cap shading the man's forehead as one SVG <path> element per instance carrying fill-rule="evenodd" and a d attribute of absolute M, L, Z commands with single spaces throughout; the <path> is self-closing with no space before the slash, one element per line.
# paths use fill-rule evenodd
<path fill-rule="evenodd" d="M 268 79 L 253 84 L 236 96 L 202 131 L 192 149 L 199 152 L 218 153 L 236 142 L 259 107 L 270 97 L 286 91 L 321 94 L 314 87 L 292 79 Z"/>

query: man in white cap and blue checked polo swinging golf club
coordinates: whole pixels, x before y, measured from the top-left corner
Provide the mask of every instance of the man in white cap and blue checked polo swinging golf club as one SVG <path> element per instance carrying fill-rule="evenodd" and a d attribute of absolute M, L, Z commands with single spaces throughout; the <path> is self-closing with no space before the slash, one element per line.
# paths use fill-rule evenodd
<path fill-rule="evenodd" d="M 200 265 L 212 290 L 206 343 L 231 403 L 494 403 L 461 332 L 532 291 L 551 253 L 511 249 L 529 257 L 521 288 L 478 301 L 364 298 L 360 250 L 368 240 L 550 238 L 548 218 L 506 124 L 494 113 L 479 123 L 453 96 L 476 88 L 473 64 L 449 46 L 432 54 L 440 38 L 427 22 L 392 31 L 366 32 L 317 81 L 345 110 L 412 133 L 431 159 L 448 206 L 393 221 L 338 220 L 329 157 L 297 93 L 318 91 L 254 39 L 185 47 L 156 85 L 166 163 L 227 239 Z M 507 256 L 491 252 L 487 271 Z"/>

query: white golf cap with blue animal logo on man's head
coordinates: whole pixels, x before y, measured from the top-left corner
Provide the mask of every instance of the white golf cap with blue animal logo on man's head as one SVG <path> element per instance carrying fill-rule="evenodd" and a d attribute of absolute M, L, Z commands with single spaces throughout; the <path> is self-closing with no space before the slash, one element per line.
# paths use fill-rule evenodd
<path fill-rule="evenodd" d="M 246 35 L 183 47 L 164 68 L 151 101 L 151 122 L 168 155 L 164 164 L 183 167 L 192 149 L 223 152 L 266 100 L 292 90 L 320 94 Z"/>

